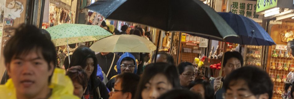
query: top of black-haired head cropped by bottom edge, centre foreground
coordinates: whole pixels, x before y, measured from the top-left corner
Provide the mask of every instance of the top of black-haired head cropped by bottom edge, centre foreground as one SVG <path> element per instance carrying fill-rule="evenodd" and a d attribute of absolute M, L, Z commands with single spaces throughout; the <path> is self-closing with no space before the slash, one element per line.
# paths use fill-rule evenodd
<path fill-rule="evenodd" d="M 158 99 L 202 99 L 202 97 L 200 94 L 193 93 L 187 89 L 177 88 L 162 94 Z"/>

